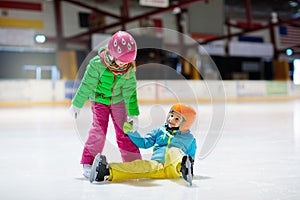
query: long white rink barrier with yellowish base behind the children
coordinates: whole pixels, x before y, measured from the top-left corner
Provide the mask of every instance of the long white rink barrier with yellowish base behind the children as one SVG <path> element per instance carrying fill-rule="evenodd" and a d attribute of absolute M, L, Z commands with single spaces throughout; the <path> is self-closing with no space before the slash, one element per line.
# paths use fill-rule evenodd
<path fill-rule="evenodd" d="M 65 80 L 0 80 L 0 106 L 70 105 L 78 85 Z M 140 104 L 286 101 L 300 99 L 300 86 L 290 81 L 141 80 L 137 93 Z"/>

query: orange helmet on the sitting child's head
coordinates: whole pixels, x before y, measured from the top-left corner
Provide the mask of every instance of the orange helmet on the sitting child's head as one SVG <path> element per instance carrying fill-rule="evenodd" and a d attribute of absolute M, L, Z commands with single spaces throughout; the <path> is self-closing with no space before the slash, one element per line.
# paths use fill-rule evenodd
<path fill-rule="evenodd" d="M 170 112 L 176 112 L 183 117 L 183 122 L 179 128 L 182 132 L 189 130 L 196 119 L 196 111 L 191 106 L 182 103 L 174 104 Z"/>

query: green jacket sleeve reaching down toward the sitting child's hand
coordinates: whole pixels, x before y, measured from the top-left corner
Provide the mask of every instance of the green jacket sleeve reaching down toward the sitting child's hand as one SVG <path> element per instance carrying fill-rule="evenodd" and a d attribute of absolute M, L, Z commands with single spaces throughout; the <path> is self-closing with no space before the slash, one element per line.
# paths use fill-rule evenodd
<path fill-rule="evenodd" d="M 129 72 L 129 78 L 122 87 L 122 95 L 128 112 L 128 116 L 139 115 L 139 106 L 136 92 L 136 76 L 133 70 Z"/>

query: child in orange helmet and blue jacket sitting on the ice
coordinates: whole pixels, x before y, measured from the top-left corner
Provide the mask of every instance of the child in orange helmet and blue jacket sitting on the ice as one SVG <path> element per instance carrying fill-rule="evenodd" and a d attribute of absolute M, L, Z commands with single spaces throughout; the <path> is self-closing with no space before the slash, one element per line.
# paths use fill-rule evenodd
<path fill-rule="evenodd" d="M 93 162 L 90 182 L 121 181 L 128 179 L 179 178 L 192 185 L 196 139 L 190 128 L 196 118 L 195 110 L 185 104 L 171 107 L 166 123 L 141 137 L 132 131 L 132 125 L 124 123 L 124 133 L 139 148 L 153 147 L 151 160 L 135 160 L 123 163 L 107 163 L 104 155 L 98 154 Z"/>

